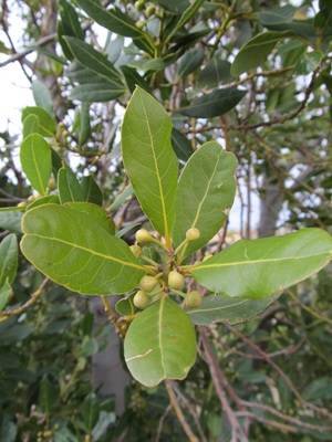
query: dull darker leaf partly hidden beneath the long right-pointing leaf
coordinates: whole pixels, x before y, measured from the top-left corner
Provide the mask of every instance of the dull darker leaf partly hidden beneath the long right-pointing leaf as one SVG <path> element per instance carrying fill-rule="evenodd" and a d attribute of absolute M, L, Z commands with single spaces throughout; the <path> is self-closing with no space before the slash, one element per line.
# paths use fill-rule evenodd
<path fill-rule="evenodd" d="M 208 295 L 203 297 L 199 307 L 187 311 L 187 314 L 196 325 L 210 325 L 212 323 L 238 324 L 255 318 L 273 301 L 274 297 L 237 299 L 222 295 Z"/>

